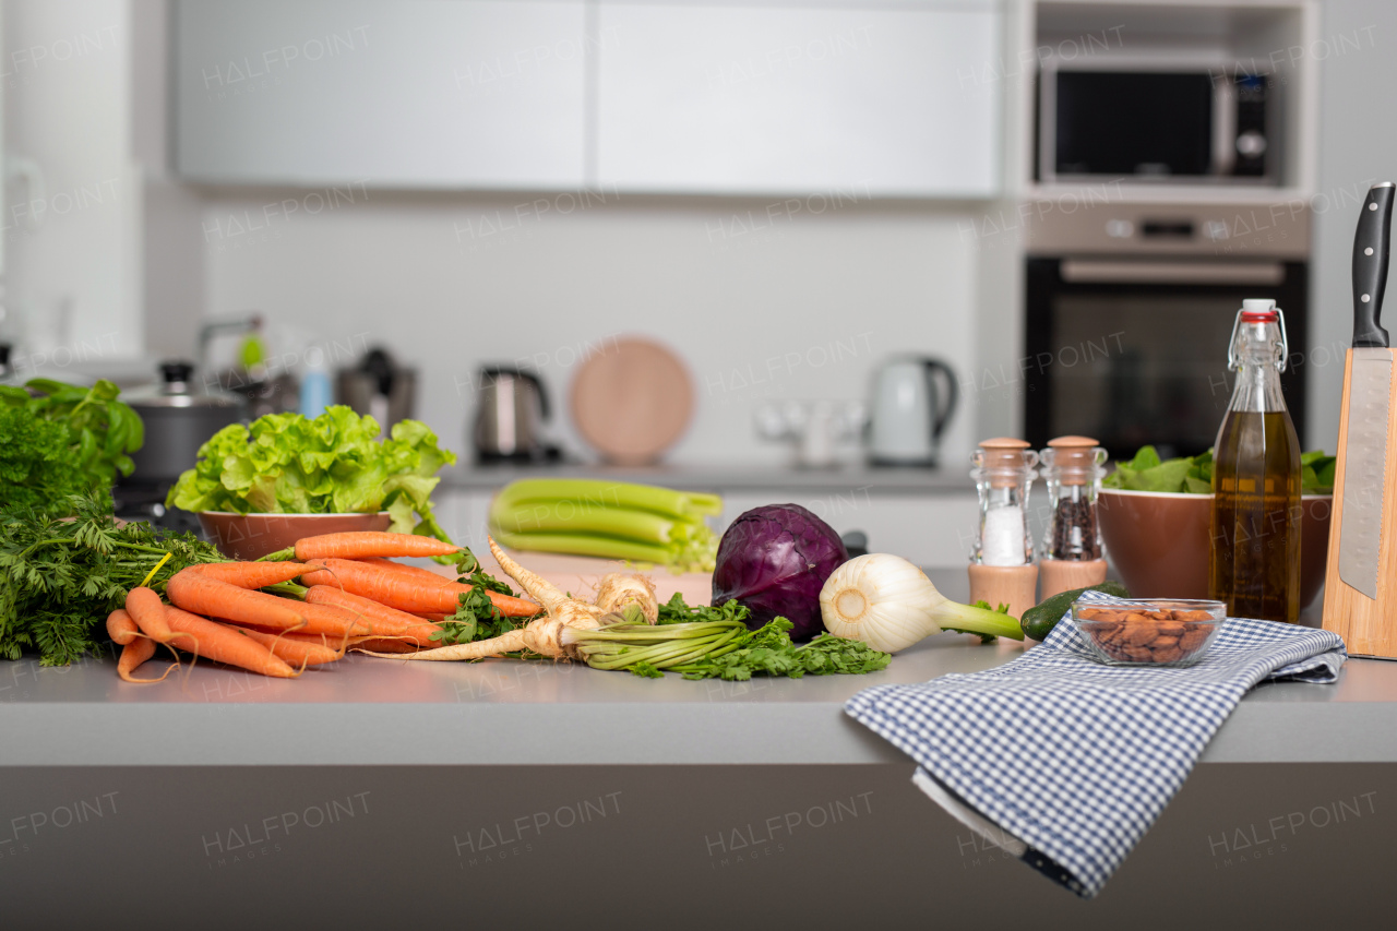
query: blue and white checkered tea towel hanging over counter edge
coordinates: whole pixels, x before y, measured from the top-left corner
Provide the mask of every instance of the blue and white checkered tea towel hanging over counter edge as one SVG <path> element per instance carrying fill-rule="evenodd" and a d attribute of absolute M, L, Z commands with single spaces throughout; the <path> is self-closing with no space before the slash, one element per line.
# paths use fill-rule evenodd
<path fill-rule="evenodd" d="M 1090 899 L 1248 689 L 1334 682 L 1348 658 L 1327 630 L 1242 618 L 1192 667 L 1111 667 L 1091 656 L 1065 621 L 1002 667 L 863 689 L 844 710 L 915 759 L 914 781 L 953 816 Z"/>

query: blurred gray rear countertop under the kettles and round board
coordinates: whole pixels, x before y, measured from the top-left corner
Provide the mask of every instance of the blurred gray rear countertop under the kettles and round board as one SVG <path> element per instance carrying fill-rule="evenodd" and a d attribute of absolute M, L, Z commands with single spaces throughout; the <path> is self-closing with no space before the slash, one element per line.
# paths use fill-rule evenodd
<path fill-rule="evenodd" d="M 517 478 L 602 478 L 645 482 L 689 491 L 789 491 L 949 495 L 974 493 L 975 484 L 965 468 L 782 468 L 778 466 L 474 466 L 441 471 L 441 488 L 493 491 Z"/>

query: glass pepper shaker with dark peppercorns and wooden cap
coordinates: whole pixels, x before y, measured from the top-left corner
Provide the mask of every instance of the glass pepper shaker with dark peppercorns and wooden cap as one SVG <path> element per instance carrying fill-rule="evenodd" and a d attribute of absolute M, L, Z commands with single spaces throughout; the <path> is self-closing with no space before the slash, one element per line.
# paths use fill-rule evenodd
<path fill-rule="evenodd" d="M 1097 496 L 1106 450 L 1090 436 L 1059 436 L 1039 456 L 1048 485 L 1048 533 L 1039 570 L 1044 598 L 1106 580 Z"/>

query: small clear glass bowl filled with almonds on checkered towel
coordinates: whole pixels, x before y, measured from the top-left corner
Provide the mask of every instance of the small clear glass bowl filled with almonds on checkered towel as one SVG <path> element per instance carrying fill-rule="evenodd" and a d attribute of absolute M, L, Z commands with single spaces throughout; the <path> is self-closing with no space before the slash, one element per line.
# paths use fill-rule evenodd
<path fill-rule="evenodd" d="M 1071 622 L 1098 663 L 1106 665 L 1193 665 L 1227 621 L 1221 601 L 1137 598 L 1074 601 Z"/>

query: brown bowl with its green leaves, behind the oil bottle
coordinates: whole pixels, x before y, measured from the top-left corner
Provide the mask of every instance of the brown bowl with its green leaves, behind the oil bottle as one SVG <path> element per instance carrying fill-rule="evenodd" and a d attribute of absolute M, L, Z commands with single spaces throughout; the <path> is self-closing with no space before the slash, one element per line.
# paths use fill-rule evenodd
<path fill-rule="evenodd" d="M 1301 607 L 1324 587 L 1334 457 L 1301 456 Z M 1213 450 L 1161 460 L 1153 446 L 1101 481 L 1101 538 L 1137 598 L 1207 598 L 1213 533 Z"/>

